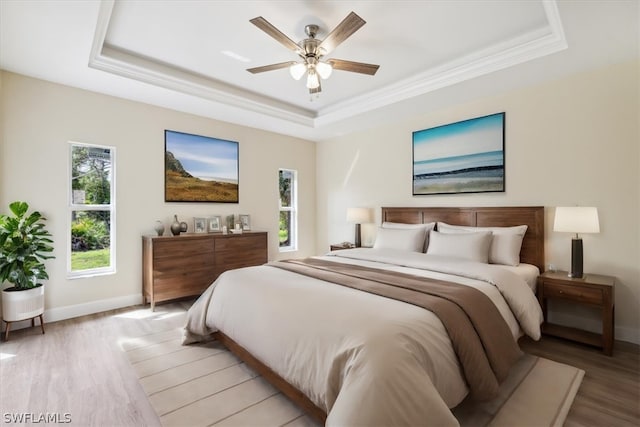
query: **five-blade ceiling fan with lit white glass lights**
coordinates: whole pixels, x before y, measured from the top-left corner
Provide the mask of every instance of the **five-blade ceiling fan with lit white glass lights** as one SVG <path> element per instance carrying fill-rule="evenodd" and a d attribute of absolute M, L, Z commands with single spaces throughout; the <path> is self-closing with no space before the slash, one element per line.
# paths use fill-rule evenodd
<path fill-rule="evenodd" d="M 253 18 L 249 22 L 273 37 L 287 49 L 291 49 L 296 52 L 302 61 L 280 62 L 278 64 L 249 68 L 247 71 L 257 74 L 264 73 L 265 71 L 289 68 L 291 77 L 296 80 L 300 80 L 306 73 L 307 88 L 309 89 L 310 94 L 319 93 L 322 90 L 320 84 L 321 79 L 328 79 L 333 70 L 350 71 L 352 73 L 368 74 L 373 76 L 380 67 L 379 65 L 346 61 L 344 59 L 331 58 L 326 61 L 321 60 L 322 57 L 331 53 L 340 43 L 345 41 L 349 36 L 358 31 L 360 27 L 366 24 L 366 21 L 360 18 L 355 12 L 349 13 L 349 15 L 347 15 L 347 17 L 339 23 L 324 40 L 316 39 L 316 34 L 319 29 L 317 25 L 305 26 L 304 31 L 308 38 L 300 41 L 300 43 L 296 43 L 291 40 L 262 16 Z"/>

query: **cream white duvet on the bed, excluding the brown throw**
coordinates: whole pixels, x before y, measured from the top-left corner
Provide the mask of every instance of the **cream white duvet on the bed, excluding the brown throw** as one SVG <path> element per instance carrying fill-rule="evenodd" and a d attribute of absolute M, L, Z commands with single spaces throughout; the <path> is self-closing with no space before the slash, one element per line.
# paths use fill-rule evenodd
<path fill-rule="evenodd" d="M 473 286 L 514 339 L 540 337 L 530 287 L 500 266 L 351 249 L 322 258 Z M 468 392 L 440 320 L 410 304 L 268 265 L 230 270 L 189 310 L 185 343 L 220 330 L 327 412 L 327 425 L 457 425 Z"/>

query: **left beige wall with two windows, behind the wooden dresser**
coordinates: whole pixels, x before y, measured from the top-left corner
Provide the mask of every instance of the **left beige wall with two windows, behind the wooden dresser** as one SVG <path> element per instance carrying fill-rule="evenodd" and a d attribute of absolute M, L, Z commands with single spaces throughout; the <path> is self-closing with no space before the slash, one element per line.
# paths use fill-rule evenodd
<path fill-rule="evenodd" d="M 48 217 L 55 260 L 48 262 L 49 320 L 130 305 L 141 295 L 141 239 L 155 220 L 177 214 L 250 214 L 252 228 L 269 232 L 269 258 L 278 253 L 278 168 L 299 172 L 300 250 L 315 244 L 315 144 L 250 127 L 205 119 L 44 82 L 0 74 L 0 210 L 25 200 Z M 164 130 L 238 141 L 240 203 L 164 203 Z M 66 278 L 68 141 L 116 147 L 117 273 Z"/>

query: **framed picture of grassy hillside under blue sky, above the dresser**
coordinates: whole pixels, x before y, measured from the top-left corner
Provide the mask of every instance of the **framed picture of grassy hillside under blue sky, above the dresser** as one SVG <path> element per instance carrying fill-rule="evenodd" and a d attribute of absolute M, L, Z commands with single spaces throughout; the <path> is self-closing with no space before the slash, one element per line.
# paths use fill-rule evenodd
<path fill-rule="evenodd" d="M 164 131 L 165 202 L 238 203 L 238 143 Z"/>

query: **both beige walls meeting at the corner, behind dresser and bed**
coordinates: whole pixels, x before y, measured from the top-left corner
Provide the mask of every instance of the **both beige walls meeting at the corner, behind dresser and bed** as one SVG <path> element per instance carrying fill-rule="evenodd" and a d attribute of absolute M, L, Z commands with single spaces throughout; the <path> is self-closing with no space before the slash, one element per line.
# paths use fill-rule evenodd
<path fill-rule="evenodd" d="M 640 342 L 640 105 L 638 63 L 530 87 L 314 144 L 250 127 L 2 72 L 0 209 L 24 199 L 49 218 L 56 240 L 49 263 L 49 319 L 124 306 L 140 294 L 140 235 L 172 215 L 248 213 L 269 231 L 277 252 L 277 169 L 299 171 L 300 250 L 322 253 L 353 240 L 349 206 L 547 207 L 547 263 L 567 268 L 570 236 L 554 233 L 553 207 L 597 206 L 601 233 L 585 235 L 585 271 L 618 277 L 617 338 Z M 506 112 L 505 193 L 411 195 L 411 132 Z M 164 129 L 240 142 L 240 204 L 167 204 L 163 198 Z M 67 141 L 117 147 L 116 275 L 67 280 Z M 317 185 L 316 185 L 317 184 Z M 317 226 L 317 230 L 316 230 Z M 316 232 L 317 231 L 317 232 Z M 364 227 L 372 243 L 375 225 Z M 568 323 L 596 330 L 593 313 L 559 307 Z"/>

